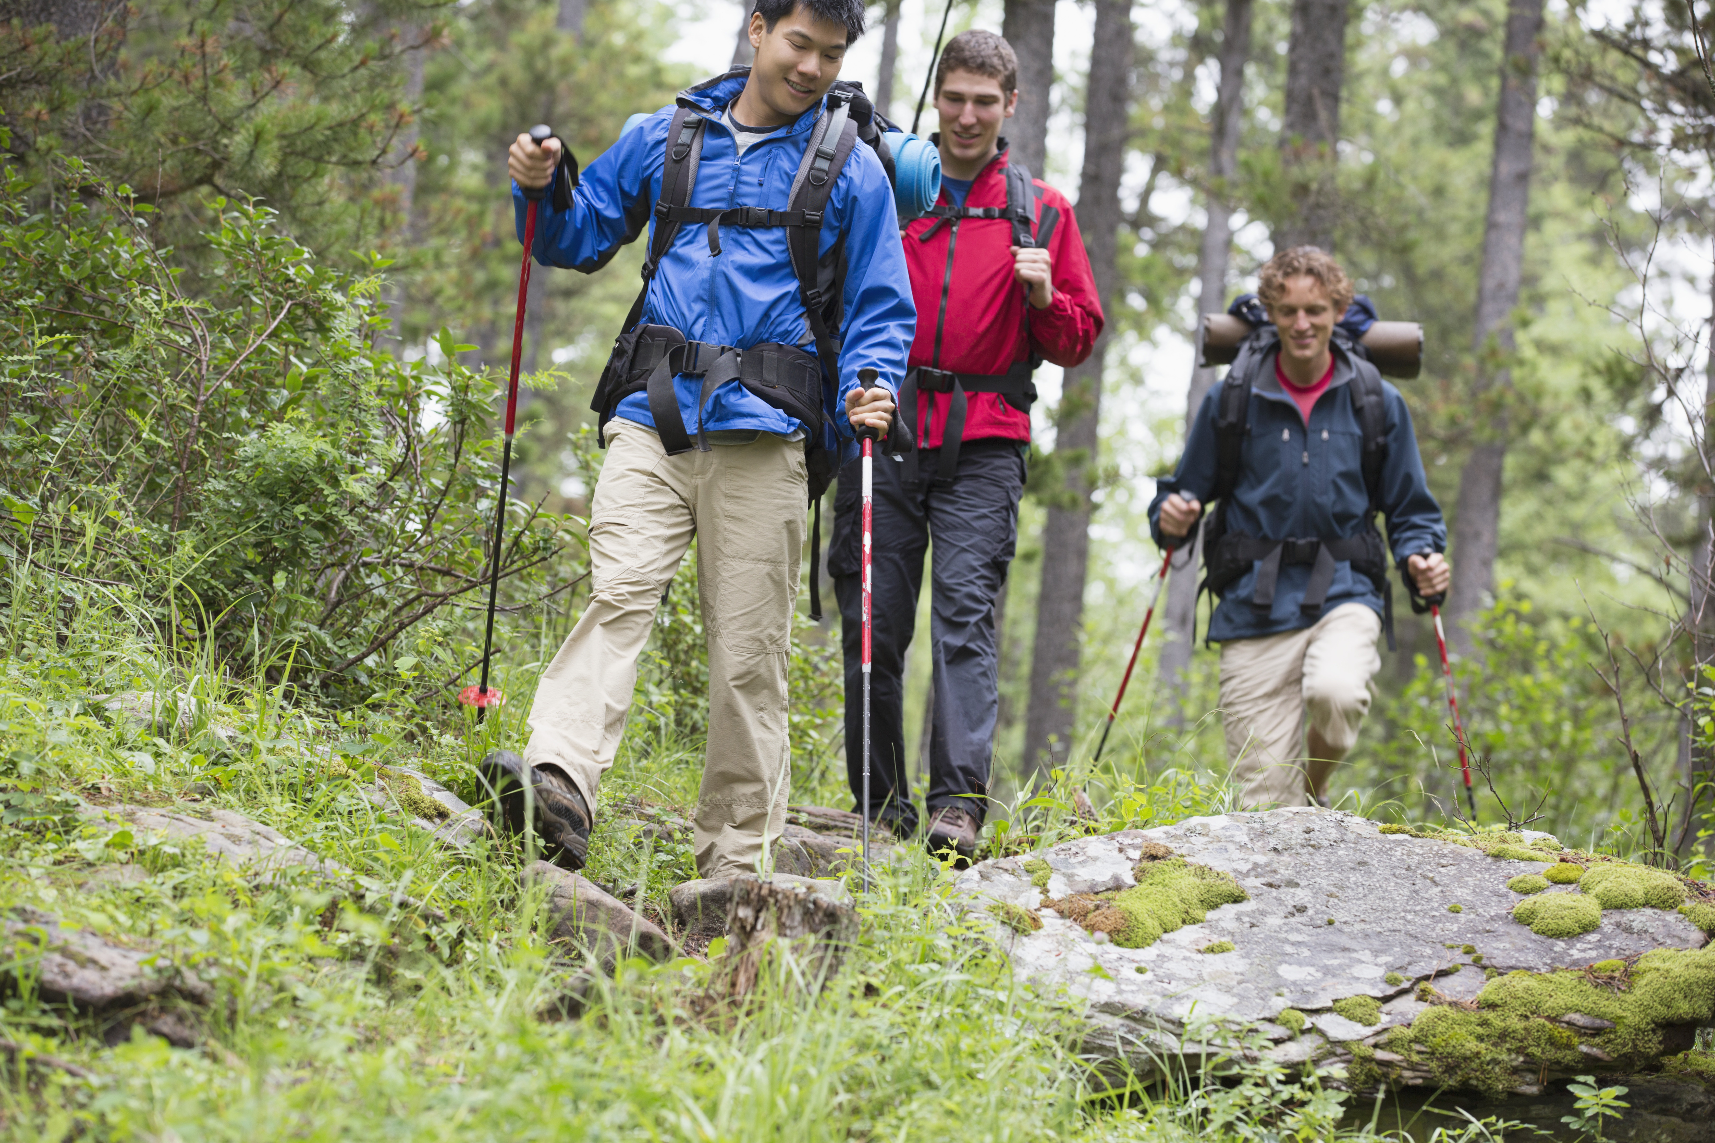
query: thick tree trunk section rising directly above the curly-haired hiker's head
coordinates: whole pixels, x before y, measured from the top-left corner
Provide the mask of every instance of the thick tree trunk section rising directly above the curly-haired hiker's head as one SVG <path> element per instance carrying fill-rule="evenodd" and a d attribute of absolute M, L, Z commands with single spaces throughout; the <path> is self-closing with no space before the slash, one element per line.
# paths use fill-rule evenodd
<path fill-rule="evenodd" d="M 1274 230 L 1274 248 L 1334 248 L 1339 189 L 1339 89 L 1346 75 L 1346 0 L 1293 0 L 1286 48 L 1286 117 L 1281 170 L 1293 202 Z"/>

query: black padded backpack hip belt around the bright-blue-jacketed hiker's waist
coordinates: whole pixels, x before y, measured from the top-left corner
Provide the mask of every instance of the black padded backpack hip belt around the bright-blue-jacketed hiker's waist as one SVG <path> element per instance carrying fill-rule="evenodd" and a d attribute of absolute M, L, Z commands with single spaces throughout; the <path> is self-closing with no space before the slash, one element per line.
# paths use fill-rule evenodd
<path fill-rule="evenodd" d="M 691 437 L 679 411 L 674 377 L 703 379 L 696 403 L 696 449 L 708 451 L 703 408 L 715 389 L 736 380 L 758 399 L 804 425 L 811 437 L 821 435 L 821 363 L 815 353 L 797 346 L 765 341 L 748 350 L 708 341 L 688 341 L 672 326 L 638 326 L 621 341 L 628 343 L 624 360 L 616 365 L 621 384 L 611 387 L 611 399 L 623 401 L 633 392 L 648 396 L 648 413 L 667 456 L 691 451 Z"/>

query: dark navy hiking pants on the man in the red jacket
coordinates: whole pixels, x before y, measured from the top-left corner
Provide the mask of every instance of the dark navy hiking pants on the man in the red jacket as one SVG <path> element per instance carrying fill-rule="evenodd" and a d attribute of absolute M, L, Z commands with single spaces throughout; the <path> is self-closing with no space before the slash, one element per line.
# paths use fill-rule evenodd
<path fill-rule="evenodd" d="M 828 574 L 840 605 L 845 651 L 845 769 L 854 811 L 863 812 L 859 463 L 840 471 L 833 495 Z M 923 588 L 923 554 L 931 536 L 935 711 L 924 802 L 931 814 L 957 805 L 976 814 L 979 823 L 988 811 L 988 768 L 1000 709 L 995 601 L 1007 583 L 1024 490 L 1024 456 L 1015 440 L 967 440 L 959 451 L 959 478 L 940 487 L 935 483 L 938 471 L 940 449 L 924 449 L 918 458 L 916 483 L 906 483 L 906 464 L 888 456 L 875 459 L 870 816 L 887 823 L 899 836 L 909 836 L 918 828 L 918 809 L 906 776 L 904 677 L 918 591 Z"/>

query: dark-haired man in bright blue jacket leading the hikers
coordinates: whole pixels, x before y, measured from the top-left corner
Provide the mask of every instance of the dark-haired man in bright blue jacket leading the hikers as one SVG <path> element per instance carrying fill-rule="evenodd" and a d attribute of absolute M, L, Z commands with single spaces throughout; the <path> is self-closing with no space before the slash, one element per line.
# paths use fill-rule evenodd
<path fill-rule="evenodd" d="M 863 22 L 861 0 L 761 0 L 755 67 L 681 93 L 576 187 L 557 141 L 520 135 L 511 147 L 520 238 L 525 211 L 539 211 L 537 262 L 595 271 L 653 221 L 645 293 L 616 344 L 614 384 L 604 375 L 597 398 L 607 458 L 590 518 L 590 603 L 542 673 L 523 757 L 496 752 L 482 766 L 506 823 L 521 829 L 533 812 L 573 869 L 655 607 L 693 536 L 708 637 L 700 874 L 756 869 L 785 826 L 785 667 L 809 471 L 852 452 L 856 427 L 887 430 L 916 326 L 894 194 L 870 147 L 821 171 L 818 187 L 833 177 L 825 209 L 792 223 L 808 226 L 820 264 L 844 264 L 837 338 L 815 336 L 789 252 L 794 180 L 821 154 L 806 156 L 818 122 L 845 122 L 827 94 Z M 664 170 L 676 200 L 664 197 Z M 527 202 L 525 187 L 547 197 Z M 677 230 L 662 231 L 664 221 Z M 809 396 L 794 404 L 782 392 Z"/>

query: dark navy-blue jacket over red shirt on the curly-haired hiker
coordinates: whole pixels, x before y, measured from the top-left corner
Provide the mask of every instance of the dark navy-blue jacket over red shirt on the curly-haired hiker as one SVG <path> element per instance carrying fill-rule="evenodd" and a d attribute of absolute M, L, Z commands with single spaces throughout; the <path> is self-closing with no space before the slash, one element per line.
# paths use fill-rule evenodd
<path fill-rule="evenodd" d="M 1226 506 L 1226 530 L 1264 540 L 1355 536 L 1363 530 L 1369 492 L 1363 488 L 1360 458 L 1363 432 L 1351 408 L 1353 365 L 1336 343 L 1334 379 L 1310 410 L 1305 428 L 1297 403 L 1281 389 L 1274 375 L 1276 353 L 1267 353 L 1250 386 L 1250 432 L 1245 435 L 1238 482 Z M 1444 552 L 1447 526 L 1441 506 L 1429 492 L 1423 461 L 1411 432 L 1411 411 L 1405 398 L 1386 380 L 1382 398 L 1387 410 L 1387 461 L 1382 464 L 1379 507 L 1387 521 L 1387 547 L 1401 567 L 1406 557 Z M 1209 506 L 1214 494 L 1214 420 L 1219 413 L 1221 386 L 1214 386 L 1197 410 L 1185 454 L 1171 478 L 1156 485 L 1149 502 L 1149 530 L 1158 545 L 1161 502 L 1171 492 L 1195 497 Z M 1211 506 L 1213 507 L 1213 506 Z M 1267 612 L 1252 605 L 1257 584 L 1255 560 L 1235 579 L 1209 620 L 1209 641 L 1255 639 L 1315 624 L 1317 615 L 1298 610 L 1310 583 L 1309 564 L 1283 564 L 1274 588 L 1274 607 Z M 1339 560 L 1334 583 L 1322 605 L 1326 615 L 1341 603 L 1363 603 L 1382 613 L 1382 595 L 1369 576 L 1353 572 Z"/>

